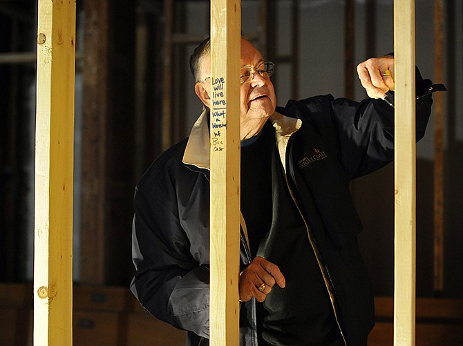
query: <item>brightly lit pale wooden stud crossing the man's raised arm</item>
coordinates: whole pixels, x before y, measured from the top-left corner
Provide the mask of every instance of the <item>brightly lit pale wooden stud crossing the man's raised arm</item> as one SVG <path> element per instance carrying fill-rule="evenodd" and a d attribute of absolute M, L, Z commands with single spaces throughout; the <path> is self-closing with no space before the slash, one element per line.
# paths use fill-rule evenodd
<path fill-rule="evenodd" d="M 394 345 L 415 345 L 415 1 L 394 1 Z"/>

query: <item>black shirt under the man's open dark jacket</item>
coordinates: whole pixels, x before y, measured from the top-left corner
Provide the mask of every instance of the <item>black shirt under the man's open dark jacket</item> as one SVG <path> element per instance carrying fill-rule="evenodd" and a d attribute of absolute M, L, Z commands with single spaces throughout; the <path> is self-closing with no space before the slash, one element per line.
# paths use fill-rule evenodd
<path fill-rule="evenodd" d="M 308 230 L 294 204 L 267 122 L 241 148 L 241 210 L 252 256 L 278 265 L 286 287 L 257 302 L 259 345 L 327 345 L 339 336 Z M 334 335 L 333 335 L 334 334 Z"/>

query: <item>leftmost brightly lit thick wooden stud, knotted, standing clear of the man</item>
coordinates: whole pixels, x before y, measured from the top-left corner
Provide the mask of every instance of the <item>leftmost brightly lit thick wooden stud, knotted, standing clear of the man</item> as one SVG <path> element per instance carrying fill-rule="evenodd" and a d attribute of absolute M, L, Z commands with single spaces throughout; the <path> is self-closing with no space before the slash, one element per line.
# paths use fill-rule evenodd
<path fill-rule="evenodd" d="M 34 344 L 72 345 L 75 1 L 38 10 Z"/>

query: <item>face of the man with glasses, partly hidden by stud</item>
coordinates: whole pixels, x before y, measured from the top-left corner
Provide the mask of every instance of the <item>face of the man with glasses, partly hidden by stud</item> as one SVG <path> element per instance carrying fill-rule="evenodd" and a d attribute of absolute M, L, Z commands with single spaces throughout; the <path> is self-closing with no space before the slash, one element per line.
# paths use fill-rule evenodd
<path fill-rule="evenodd" d="M 246 39 L 241 39 L 241 66 L 258 67 L 264 62 L 264 59 L 258 50 L 252 46 Z M 205 57 L 202 61 L 205 66 L 205 73 L 210 75 L 211 59 Z M 210 80 L 207 79 L 203 86 L 207 93 L 211 95 Z M 203 101 L 205 102 L 205 101 Z M 206 103 L 209 104 L 206 104 Z M 210 108 L 210 99 L 205 102 Z M 240 113 L 241 124 L 252 119 L 264 119 L 270 117 L 275 111 L 276 95 L 274 86 L 270 77 L 262 77 L 259 73 L 254 73 L 250 83 L 241 84 L 240 86 Z"/>

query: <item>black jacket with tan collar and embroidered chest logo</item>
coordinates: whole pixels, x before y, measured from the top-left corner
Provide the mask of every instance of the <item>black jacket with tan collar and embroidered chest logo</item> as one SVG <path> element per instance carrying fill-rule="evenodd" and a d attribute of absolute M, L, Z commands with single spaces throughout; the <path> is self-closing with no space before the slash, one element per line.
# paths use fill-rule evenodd
<path fill-rule="evenodd" d="M 417 99 L 417 140 L 431 114 Z M 282 116 L 283 115 L 283 116 Z M 404 115 L 409 116 L 409 115 Z M 373 294 L 357 246 L 362 224 L 350 180 L 393 160 L 394 112 L 381 100 L 331 95 L 290 101 L 270 118 L 296 204 L 347 345 L 366 345 L 374 325 Z M 308 204 L 310 200 L 315 205 Z M 311 224 L 318 213 L 323 227 Z M 240 260 L 252 260 L 241 234 Z M 189 139 L 155 160 L 135 189 L 133 294 L 151 314 L 189 331 L 187 345 L 209 335 L 209 129 L 205 114 Z M 240 311 L 240 344 L 256 345 L 255 300 Z M 207 344 L 205 340 L 205 344 Z M 201 344 L 203 345 L 203 344 Z"/>

